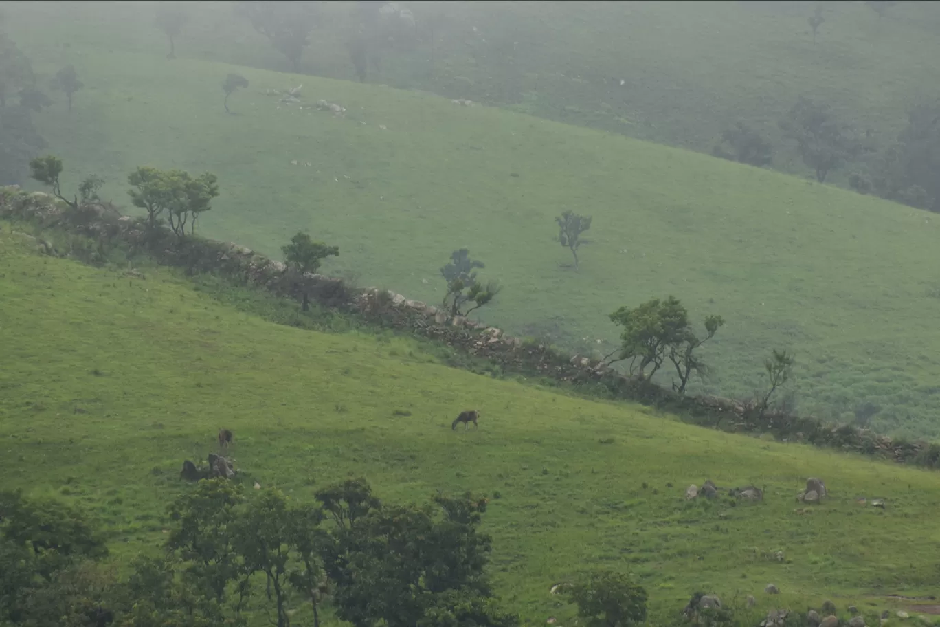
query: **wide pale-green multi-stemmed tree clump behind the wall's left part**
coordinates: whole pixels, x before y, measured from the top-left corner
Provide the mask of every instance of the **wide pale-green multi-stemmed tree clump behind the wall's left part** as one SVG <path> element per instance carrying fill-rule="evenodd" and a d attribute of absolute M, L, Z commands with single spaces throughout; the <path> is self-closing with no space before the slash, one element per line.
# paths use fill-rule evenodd
<path fill-rule="evenodd" d="M 196 219 L 211 210 L 211 200 L 219 195 L 214 174 L 208 172 L 196 178 L 181 170 L 158 170 L 155 167 L 138 166 L 128 181 L 134 188 L 128 193 L 135 207 L 147 211 L 150 228 L 157 226 L 157 219 L 166 214 L 170 228 L 182 240 L 186 225 L 196 232 Z"/>

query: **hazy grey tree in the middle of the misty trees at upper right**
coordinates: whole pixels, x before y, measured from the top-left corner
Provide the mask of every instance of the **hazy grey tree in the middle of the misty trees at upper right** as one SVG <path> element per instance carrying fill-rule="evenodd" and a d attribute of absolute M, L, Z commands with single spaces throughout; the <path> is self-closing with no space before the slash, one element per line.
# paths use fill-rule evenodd
<path fill-rule="evenodd" d="M 826 176 L 854 157 L 858 147 L 838 124 L 829 107 L 801 97 L 780 121 L 784 135 L 796 142 L 803 163 L 816 173 L 816 180 Z"/>

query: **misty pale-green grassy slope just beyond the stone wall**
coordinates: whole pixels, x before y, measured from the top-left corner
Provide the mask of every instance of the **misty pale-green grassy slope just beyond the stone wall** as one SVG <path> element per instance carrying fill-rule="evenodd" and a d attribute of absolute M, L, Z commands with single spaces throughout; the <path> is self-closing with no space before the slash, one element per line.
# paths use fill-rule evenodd
<path fill-rule="evenodd" d="M 709 391 L 751 394 L 765 355 L 786 348 L 798 358 L 800 411 L 854 421 L 873 403 L 879 430 L 940 434 L 929 213 L 427 94 L 61 51 L 38 71 L 74 57 L 86 88 L 71 113 L 58 102 L 37 119 L 66 161 L 68 189 L 99 173 L 121 203 L 134 165 L 211 171 L 222 196 L 203 233 L 278 256 L 309 229 L 340 247 L 329 271 L 433 303 L 437 269 L 469 246 L 505 285 L 480 310 L 486 321 L 581 350 L 612 348 L 607 314 L 618 306 L 673 293 L 694 318 L 728 321 L 707 347 Z M 229 71 L 251 83 L 229 101 L 235 116 L 222 106 Z M 260 93 L 300 82 L 303 109 Z M 346 116 L 311 108 L 321 98 Z M 553 241 L 566 209 L 594 216 L 578 271 Z"/>

